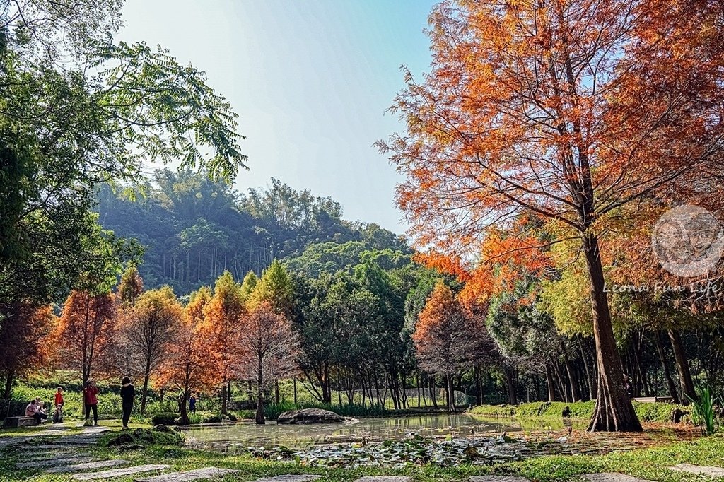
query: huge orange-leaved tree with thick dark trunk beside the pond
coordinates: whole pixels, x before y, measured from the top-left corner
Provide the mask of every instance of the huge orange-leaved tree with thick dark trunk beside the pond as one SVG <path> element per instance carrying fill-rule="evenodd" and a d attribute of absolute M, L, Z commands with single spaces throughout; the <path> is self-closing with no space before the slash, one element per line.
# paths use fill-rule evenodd
<path fill-rule="evenodd" d="M 722 9 L 703 0 L 444 1 L 429 19 L 432 71 L 423 83 L 406 72 L 395 98 L 406 132 L 379 143 L 407 176 L 397 200 L 420 246 L 470 260 L 490 228 L 505 231 L 525 212 L 578 238 L 599 374 L 592 431 L 641 430 L 604 289 L 607 223 L 645 198 L 718 190 Z"/>

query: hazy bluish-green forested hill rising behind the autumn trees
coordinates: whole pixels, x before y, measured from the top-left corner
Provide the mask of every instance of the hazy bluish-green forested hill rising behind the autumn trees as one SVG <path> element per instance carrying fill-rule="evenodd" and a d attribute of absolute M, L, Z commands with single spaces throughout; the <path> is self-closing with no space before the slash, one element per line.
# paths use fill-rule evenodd
<path fill-rule="evenodd" d="M 384 252 L 390 264 L 411 254 L 404 237 L 342 219 L 332 198 L 274 178 L 268 187 L 240 193 L 204 172 L 162 169 L 141 192 L 104 185 L 98 213 L 104 229 L 143 246 L 138 269 L 149 288 L 169 284 L 182 295 L 213 284 L 224 271 L 235 279 L 248 271 L 261 275 L 274 259 L 317 276 L 358 262 L 369 250 Z"/>

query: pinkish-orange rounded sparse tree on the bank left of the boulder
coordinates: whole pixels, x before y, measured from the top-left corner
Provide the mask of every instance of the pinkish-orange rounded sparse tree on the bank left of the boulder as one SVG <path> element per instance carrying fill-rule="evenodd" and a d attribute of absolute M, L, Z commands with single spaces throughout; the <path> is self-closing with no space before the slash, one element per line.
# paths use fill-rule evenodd
<path fill-rule="evenodd" d="M 289 319 L 262 301 L 245 316 L 240 348 L 244 378 L 256 381 L 256 423 L 264 423 L 264 391 L 298 373 L 299 335 Z"/>

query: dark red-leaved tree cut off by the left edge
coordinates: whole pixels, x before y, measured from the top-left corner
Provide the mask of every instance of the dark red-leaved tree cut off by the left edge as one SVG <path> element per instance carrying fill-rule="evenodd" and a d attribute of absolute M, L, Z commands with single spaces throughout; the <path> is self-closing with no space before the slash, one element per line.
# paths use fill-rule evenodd
<path fill-rule="evenodd" d="M 50 365 L 52 355 L 51 331 L 56 317 L 49 306 L 35 307 L 31 303 L 12 303 L 0 325 L 0 373 L 5 377 L 4 399 L 10 398 L 12 381 Z"/>

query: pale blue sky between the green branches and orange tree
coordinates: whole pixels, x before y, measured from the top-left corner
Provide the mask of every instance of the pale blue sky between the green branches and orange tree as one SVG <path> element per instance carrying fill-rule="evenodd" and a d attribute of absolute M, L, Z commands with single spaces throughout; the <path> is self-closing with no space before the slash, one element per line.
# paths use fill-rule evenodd
<path fill-rule="evenodd" d="M 240 115 L 249 171 L 340 201 L 345 218 L 402 233 L 400 177 L 371 145 L 400 130 L 385 113 L 401 64 L 428 69 L 433 0 L 127 0 L 127 41 L 169 48 Z"/>

